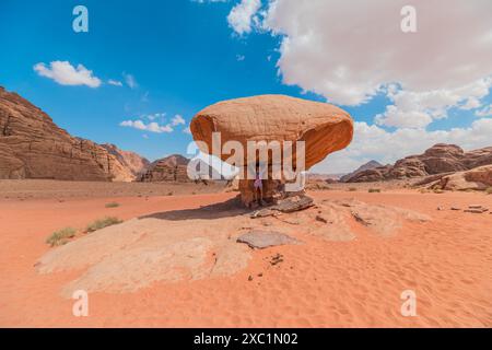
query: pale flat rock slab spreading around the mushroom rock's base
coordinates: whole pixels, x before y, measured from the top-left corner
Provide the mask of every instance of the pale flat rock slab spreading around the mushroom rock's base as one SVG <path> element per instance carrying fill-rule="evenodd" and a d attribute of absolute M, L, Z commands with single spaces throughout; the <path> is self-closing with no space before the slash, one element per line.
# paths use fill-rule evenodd
<path fill-rule="evenodd" d="M 255 252 L 306 240 L 345 242 L 360 234 L 387 237 L 429 217 L 407 209 L 358 200 L 321 200 L 302 211 L 251 219 L 237 202 L 137 218 L 49 250 L 39 273 L 78 271 L 62 295 L 131 292 L 156 282 L 231 276 L 248 266 Z M 302 249 L 303 245 L 293 245 Z M 280 247 L 278 247 L 280 248 Z"/>

